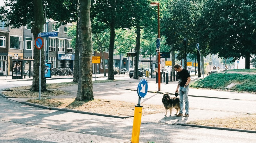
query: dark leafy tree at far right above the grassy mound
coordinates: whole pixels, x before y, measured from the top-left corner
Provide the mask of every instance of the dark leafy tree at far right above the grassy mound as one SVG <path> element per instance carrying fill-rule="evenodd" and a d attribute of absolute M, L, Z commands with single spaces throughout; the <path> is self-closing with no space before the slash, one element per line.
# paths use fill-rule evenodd
<path fill-rule="evenodd" d="M 211 53 L 223 58 L 245 57 L 250 68 L 250 55 L 256 53 L 256 1 L 216 0 L 203 6 L 200 37 L 208 42 Z"/>

